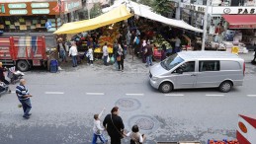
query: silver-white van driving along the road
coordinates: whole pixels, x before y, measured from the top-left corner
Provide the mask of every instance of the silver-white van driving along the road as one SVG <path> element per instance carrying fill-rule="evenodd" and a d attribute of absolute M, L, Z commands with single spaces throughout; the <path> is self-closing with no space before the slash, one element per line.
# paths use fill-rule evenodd
<path fill-rule="evenodd" d="M 163 93 L 174 89 L 218 88 L 227 93 L 242 86 L 245 63 L 226 51 L 182 51 L 150 67 L 153 88 Z"/>

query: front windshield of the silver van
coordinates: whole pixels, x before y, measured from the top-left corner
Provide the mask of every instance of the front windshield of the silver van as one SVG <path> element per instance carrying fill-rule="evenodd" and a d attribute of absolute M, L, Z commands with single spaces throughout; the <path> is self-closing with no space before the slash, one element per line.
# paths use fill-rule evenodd
<path fill-rule="evenodd" d="M 175 53 L 162 61 L 161 66 L 166 70 L 170 70 L 183 61 L 184 59 L 182 59 L 177 53 Z"/>

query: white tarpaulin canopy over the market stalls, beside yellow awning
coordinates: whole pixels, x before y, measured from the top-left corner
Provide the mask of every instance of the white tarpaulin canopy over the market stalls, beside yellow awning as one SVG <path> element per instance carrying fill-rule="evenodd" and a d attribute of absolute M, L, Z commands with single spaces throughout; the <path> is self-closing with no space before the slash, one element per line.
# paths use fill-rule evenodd
<path fill-rule="evenodd" d="M 195 28 L 182 20 L 168 19 L 166 17 L 163 17 L 161 15 L 158 15 L 152 12 L 150 7 L 141 5 L 132 1 L 125 1 L 125 0 L 117 1 L 113 6 L 103 9 L 103 12 L 108 12 L 124 3 L 127 5 L 128 8 L 130 8 L 134 12 L 135 15 L 139 17 L 157 21 L 172 27 L 177 27 L 177 28 L 194 31 L 194 32 L 203 33 L 203 30 Z"/>

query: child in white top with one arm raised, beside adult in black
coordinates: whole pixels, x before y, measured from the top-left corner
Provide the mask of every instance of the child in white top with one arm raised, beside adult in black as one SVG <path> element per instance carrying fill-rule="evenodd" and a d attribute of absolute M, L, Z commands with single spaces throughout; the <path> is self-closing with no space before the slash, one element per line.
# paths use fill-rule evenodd
<path fill-rule="evenodd" d="M 108 142 L 108 140 L 102 134 L 102 131 L 104 131 L 105 128 L 101 126 L 101 120 L 100 120 L 104 110 L 105 110 L 105 108 L 102 109 L 100 114 L 94 114 L 92 144 L 96 144 L 98 138 L 100 138 L 102 143 L 107 143 Z"/>

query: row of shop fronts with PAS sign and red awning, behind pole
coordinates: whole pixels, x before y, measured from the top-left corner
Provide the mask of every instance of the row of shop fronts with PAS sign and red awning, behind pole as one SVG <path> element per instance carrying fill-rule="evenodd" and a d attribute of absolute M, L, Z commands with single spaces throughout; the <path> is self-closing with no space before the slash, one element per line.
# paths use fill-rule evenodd
<path fill-rule="evenodd" d="M 176 19 L 203 29 L 207 0 L 173 1 Z M 256 45 L 256 0 L 209 0 L 208 35 L 214 41 L 239 41 Z M 177 12 L 178 11 L 178 12 Z M 214 37 L 213 37 L 214 36 Z"/>

